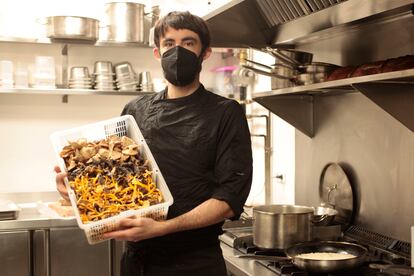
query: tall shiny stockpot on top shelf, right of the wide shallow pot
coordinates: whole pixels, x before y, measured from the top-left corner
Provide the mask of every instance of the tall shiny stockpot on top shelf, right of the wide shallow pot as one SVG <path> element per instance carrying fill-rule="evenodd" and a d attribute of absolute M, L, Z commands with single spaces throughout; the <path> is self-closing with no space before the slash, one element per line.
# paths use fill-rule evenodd
<path fill-rule="evenodd" d="M 143 4 L 111 2 L 105 4 L 108 23 L 107 41 L 144 42 Z"/>

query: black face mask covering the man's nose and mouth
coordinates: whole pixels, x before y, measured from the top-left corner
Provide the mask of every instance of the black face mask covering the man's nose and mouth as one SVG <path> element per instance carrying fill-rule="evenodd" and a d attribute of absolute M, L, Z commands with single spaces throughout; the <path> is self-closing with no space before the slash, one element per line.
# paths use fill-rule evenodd
<path fill-rule="evenodd" d="M 189 85 L 201 71 L 201 57 L 181 46 L 169 49 L 161 57 L 164 77 L 175 86 Z"/>

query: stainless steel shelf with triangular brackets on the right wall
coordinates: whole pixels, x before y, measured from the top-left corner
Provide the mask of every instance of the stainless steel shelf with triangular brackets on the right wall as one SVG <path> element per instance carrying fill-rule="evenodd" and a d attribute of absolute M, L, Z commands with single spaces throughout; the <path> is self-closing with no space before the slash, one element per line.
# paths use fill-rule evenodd
<path fill-rule="evenodd" d="M 414 69 L 255 93 L 253 100 L 309 137 L 314 97 L 360 92 L 414 132 Z"/>

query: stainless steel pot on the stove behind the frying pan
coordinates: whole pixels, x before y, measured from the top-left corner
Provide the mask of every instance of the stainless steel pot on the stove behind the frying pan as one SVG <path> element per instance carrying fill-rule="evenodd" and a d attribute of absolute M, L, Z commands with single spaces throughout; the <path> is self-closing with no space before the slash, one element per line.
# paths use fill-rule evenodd
<path fill-rule="evenodd" d="M 253 208 L 253 243 L 263 249 L 286 249 L 312 238 L 312 207 L 262 205 Z"/>

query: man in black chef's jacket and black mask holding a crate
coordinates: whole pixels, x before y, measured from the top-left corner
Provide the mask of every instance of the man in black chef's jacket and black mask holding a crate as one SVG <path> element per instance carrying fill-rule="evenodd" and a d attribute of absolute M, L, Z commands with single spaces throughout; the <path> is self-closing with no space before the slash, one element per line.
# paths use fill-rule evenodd
<path fill-rule="evenodd" d="M 167 87 L 128 103 L 173 195 L 165 221 L 128 218 L 107 238 L 125 240 L 121 271 L 129 275 L 226 275 L 218 235 L 243 211 L 252 180 L 248 125 L 235 101 L 204 89 L 203 60 L 211 54 L 206 23 L 172 12 L 154 30 L 154 56 Z M 59 168 L 58 190 L 64 195 Z"/>

